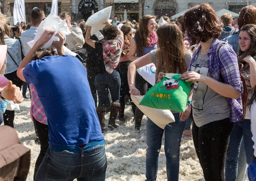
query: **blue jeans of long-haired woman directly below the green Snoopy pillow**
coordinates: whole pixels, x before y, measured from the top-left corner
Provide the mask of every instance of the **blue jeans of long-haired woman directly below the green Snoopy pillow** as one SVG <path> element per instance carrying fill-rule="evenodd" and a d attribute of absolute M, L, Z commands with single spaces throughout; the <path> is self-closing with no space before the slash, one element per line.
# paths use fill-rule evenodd
<path fill-rule="evenodd" d="M 165 132 L 164 151 L 166 155 L 166 172 L 168 181 L 179 180 L 180 169 L 180 141 L 186 121 L 180 121 L 179 113 L 173 114 L 175 122 L 161 129 L 149 118 L 146 122 L 146 181 L 157 179 L 159 152 Z"/>

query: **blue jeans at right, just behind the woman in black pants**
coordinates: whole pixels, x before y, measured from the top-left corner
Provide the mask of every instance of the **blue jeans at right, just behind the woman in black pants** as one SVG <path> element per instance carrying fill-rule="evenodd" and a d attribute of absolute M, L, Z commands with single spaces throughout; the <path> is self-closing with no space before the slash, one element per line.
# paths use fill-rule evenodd
<path fill-rule="evenodd" d="M 233 131 L 230 134 L 230 142 L 227 148 L 227 158 L 225 166 L 226 181 L 236 181 L 238 170 L 238 158 L 242 138 L 244 138 L 244 150 L 247 164 L 253 160 L 253 140 L 250 129 L 250 120 L 241 120 L 234 123 Z"/>

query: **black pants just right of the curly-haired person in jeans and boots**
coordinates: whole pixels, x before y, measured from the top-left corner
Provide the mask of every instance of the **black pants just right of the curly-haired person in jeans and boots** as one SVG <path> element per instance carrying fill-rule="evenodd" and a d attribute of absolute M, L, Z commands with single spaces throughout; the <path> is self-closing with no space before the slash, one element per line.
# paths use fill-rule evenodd
<path fill-rule="evenodd" d="M 130 96 L 130 89 L 128 85 L 128 66 L 130 65 L 131 61 L 125 61 L 125 62 L 119 62 L 119 72 L 120 72 L 120 78 L 121 78 L 121 89 L 120 89 L 120 117 L 124 117 L 125 113 L 125 95 L 129 95 L 130 101 L 131 101 L 131 96 Z M 131 107 L 132 107 L 132 112 L 135 115 L 135 109 L 136 106 L 134 103 L 131 101 Z"/>

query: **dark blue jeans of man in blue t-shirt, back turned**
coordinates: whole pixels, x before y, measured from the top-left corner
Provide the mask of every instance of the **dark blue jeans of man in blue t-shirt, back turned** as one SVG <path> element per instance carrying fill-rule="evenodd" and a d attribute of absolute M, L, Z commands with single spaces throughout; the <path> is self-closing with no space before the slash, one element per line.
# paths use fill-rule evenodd
<path fill-rule="evenodd" d="M 106 169 L 105 145 L 80 153 L 48 148 L 35 181 L 105 181 Z"/>

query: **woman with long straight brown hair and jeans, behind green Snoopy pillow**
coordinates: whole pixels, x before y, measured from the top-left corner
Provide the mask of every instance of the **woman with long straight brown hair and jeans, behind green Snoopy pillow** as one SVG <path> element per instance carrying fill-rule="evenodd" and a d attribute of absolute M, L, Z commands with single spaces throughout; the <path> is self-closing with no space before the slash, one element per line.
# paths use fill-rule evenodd
<path fill-rule="evenodd" d="M 128 69 L 128 83 L 132 95 L 140 95 L 134 85 L 136 70 L 149 63 L 157 67 L 159 72 L 184 73 L 186 72 L 185 49 L 183 47 L 183 34 L 175 23 L 166 23 L 157 29 L 157 49 L 132 62 Z M 162 145 L 163 132 L 165 132 L 166 172 L 168 181 L 178 181 L 180 161 L 180 141 L 186 119 L 189 117 L 191 106 L 188 104 L 185 112 L 173 112 L 175 122 L 161 129 L 149 118 L 146 121 L 146 181 L 155 181 L 157 178 L 159 150 Z M 180 117 L 181 115 L 181 117 Z"/>

